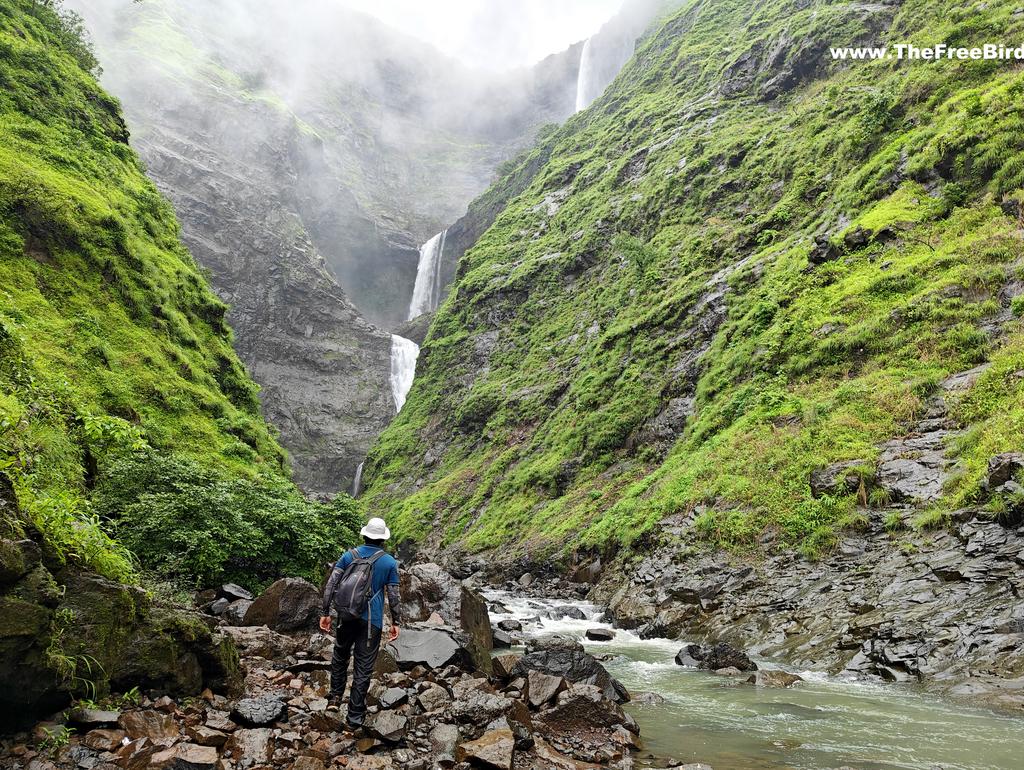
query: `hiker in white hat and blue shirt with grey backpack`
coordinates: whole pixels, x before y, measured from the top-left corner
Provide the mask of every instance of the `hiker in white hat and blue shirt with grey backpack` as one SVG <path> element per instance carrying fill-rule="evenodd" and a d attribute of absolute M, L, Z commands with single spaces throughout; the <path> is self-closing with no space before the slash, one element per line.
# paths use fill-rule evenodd
<path fill-rule="evenodd" d="M 333 705 L 340 705 L 348 680 L 348 660 L 355 650 L 352 667 L 352 688 L 348 696 L 350 730 L 362 726 L 367 713 L 367 690 L 377 662 L 384 629 L 384 593 L 391 607 L 391 629 L 387 640 L 398 638 L 401 609 L 398 596 L 398 562 L 384 552 L 384 543 L 391 537 L 384 519 L 372 518 L 359 530 L 362 545 L 342 554 L 331 571 L 324 589 L 319 627 L 331 633 L 331 608 L 338 613 L 334 656 L 331 660 L 331 694 Z"/>

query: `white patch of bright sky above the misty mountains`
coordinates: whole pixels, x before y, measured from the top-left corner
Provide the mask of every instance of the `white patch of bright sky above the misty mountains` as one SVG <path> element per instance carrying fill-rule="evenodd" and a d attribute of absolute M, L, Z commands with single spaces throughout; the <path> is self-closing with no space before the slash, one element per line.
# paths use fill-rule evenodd
<path fill-rule="evenodd" d="M 337 0 L 473 68 L 524 67 L 597 32 L 623 0 Z"/>

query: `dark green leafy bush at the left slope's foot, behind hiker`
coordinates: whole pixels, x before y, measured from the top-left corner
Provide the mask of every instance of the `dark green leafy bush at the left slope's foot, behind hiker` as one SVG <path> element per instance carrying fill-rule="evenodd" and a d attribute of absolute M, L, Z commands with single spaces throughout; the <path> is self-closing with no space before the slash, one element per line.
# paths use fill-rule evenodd
<path fill-rule="evenodd" d="M 355 538 L 355 502 L 305 500 L 278 477 L 236 478 L 195 461 L 140 454 L 115 463 L 96 511 L 139 566 L 162 578 L 259 587 L 282 575 L 313 582 Z"/>

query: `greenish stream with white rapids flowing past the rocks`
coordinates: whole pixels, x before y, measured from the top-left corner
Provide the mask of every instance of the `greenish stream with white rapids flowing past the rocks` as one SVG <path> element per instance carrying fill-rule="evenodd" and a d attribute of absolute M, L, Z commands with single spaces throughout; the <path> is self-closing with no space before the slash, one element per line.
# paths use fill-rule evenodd
<path fill-rule="evenodd" d="M 795 671 L 806 681 L 791 688 L 755 687 L 742 678 L 678 666 L 685 641 L 641 639 L 614 629 L 609 642 L 585 638 L 587 629 L 612 628 L 601 607 L 572 600 L 486 592 L 508 612 L 492 622 L 522 623 L 518 636 L 552 634 L 581 639 L 630 692 L 654 692 L 657 705 L 627 703 L 640 725 L 638 764 L 664 767 L 703 762 L 715 770 L 855 768 L 856 770 L 1018 770 L 1024 768 L 1024 721 L 941 699 L 908 685 L 876 684 Z M 571 604 L 587 619 L 543 615 Z M 532 619 L 529 618 L 538 618 Z M 762 669 L 782 668 L 755 658 Z M 659 759 L 654 759 L 659 758 Z"/>

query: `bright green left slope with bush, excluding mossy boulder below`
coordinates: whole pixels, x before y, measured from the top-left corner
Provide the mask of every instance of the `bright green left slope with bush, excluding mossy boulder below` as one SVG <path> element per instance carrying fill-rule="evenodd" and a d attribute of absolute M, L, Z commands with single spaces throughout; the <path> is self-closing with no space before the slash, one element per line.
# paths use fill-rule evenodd
<path fill-rule="evenodd" d="M 313 569 L 350 512 L 287 480 L 227 308 L 52 6 L 0 2 L 0 471 L 109 576 L 132 576 L 125 545 L 188 579 Z"/>

